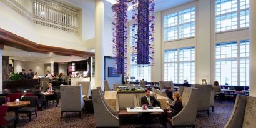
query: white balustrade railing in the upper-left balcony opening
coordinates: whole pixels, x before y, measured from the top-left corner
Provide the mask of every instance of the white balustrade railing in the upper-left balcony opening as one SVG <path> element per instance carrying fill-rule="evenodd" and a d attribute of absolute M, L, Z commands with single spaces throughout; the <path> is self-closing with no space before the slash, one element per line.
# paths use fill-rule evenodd
<path fill-rule="evenodd" d="M 79 34 L 79 10 L 53 0 L 1 0 L 14 11 L 42 26 Z"/>

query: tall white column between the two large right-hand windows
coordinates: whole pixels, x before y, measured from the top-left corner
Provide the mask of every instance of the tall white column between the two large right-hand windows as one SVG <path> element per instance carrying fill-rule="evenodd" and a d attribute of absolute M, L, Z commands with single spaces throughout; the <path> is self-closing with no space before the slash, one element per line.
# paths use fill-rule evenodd
<path fill-rule="evenodd" d="M 195 47 L 196 52 L 196 79 L 195 84 L 202 84 L 202 79 L 206 79 L 207 83 L 210 84 L 211 76 L 210 76 L 210 66 L 211 66 L 211 59 L 210 59 L 210 41 L 211 41 L 211 1 L 210 0 L 199 0 L 199 11 L 197 18 L 197 44 Z M 204 18 L 202 18 L 204 17 Z"/>

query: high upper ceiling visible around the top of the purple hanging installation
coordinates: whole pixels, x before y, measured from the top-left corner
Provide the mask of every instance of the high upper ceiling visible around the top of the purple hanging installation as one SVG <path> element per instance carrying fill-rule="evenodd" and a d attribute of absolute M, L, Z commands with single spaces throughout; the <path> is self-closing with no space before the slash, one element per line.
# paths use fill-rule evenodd
<path fill-rule="evenodd" d="M 95 6 L 94 0 L 57 0 L 57 1 L 62 2 L 64 4 L 69 4 L 71 6 L 76 6 L 79 8 L 86 7 L 92 10 L 94 10 L 94 6 Z M 104 11 L 105 15 L 107 17 L 112 18 L 112 9 L 111 9 L 112 4 L 110 2 L 107 2 L 106 0 L 103 0 L 103 1 L 106 5 L 105 11 Z M 166 9 L 177 7 L 192 1 L 195 1 L 195 0 L 155 0 L 155 12 L 164 11 Z M 128 14 L 128 20 L 130 20 L 132 11 L 129 11 L 127 14 Z"/>

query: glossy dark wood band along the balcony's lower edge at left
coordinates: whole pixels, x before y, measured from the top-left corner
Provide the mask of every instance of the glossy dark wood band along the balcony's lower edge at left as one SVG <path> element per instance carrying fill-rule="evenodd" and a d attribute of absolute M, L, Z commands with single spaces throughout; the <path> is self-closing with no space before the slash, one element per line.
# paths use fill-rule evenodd
<path fill-rule="evenodd" d="M 41 52 L 41 53 L 54 53 L 63 56 L 79 56 L 90 57 L 94 56 L 93 52 L 78 51 L 74 49 L 65 49 L 61 47 L 46 46 L 37 44 L 36 42 L 29 41 L 23 37 L 17 36 L 12 32 L 6 31 L 0 28 L 0 48 L 1 45 L 15 47 L 29 52 Z"/>

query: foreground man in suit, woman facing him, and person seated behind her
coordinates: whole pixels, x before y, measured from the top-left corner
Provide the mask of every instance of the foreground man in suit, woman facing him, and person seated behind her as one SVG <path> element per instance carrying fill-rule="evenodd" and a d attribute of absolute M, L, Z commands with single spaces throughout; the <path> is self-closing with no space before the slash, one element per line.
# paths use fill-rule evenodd
<path fill-rule="evenodd" d="M 175 115 L 177 115 L 183 108 L 182 106 L 182 97 L 180 96 L 179 92 L 174 92 L 172 94 L 171 87 L 166 87 L 166 91 L 169 93 L 169 95 L 171 94 L 172 97 L 170 99 L 173 99 L 174 101 L 172 103 L 167 102 L 167 105 L 169 107 L 167 107 L 166 109 L 164 109 L 164 112 L 162 112 L 162 114 L 160 115 L 160 122 L 161 124 L 166 127 L 166 123 L 167 123 L 167 118 L 170 117 L 174 117 Z M 170 91 L 170 92 L 169 92 Z M 168 94 L 167 94 L 168 95 Z M 168 96 L 169 96 L 168 95 Z M 154 96 L 150 96 L 150 90 L 145 90 L 145 96 L 141 98 L 141 104 L 146 104 L 149 107 L 161 107 L 161 104 L 159 101 L 157 101 L 157 99 L 155 99 Z M 146 124 L 146 122 L 148 121 L 149 114 L 148 113 L 143 113 L 142 114 L 142 119 L 144 120 L 144 124 Z"/>

